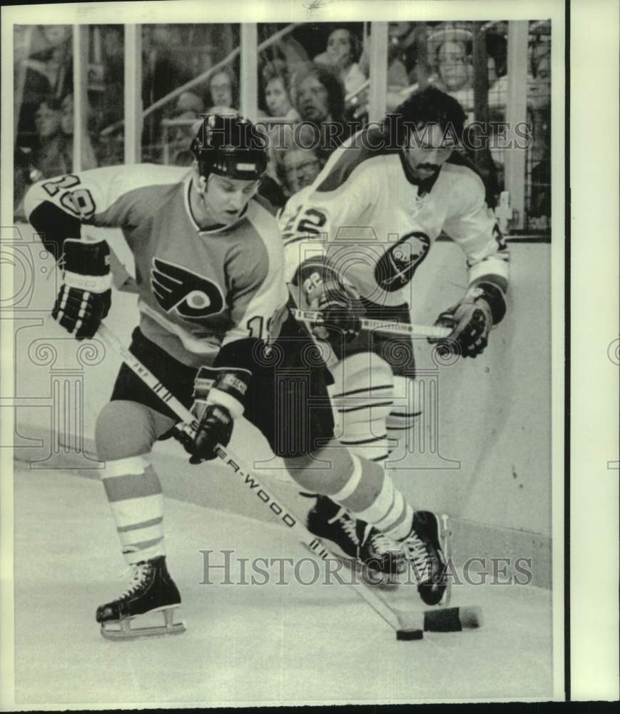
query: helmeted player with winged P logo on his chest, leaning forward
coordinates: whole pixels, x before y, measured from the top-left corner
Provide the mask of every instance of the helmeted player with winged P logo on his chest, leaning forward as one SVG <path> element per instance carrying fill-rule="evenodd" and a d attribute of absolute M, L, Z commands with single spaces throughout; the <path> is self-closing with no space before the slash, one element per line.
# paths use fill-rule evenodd
<path fill-rule="evenodd" d="M 308 360 L 310 336 L 285 308 L 282 238 L 255 196 L 267 154 L 254 129 L 244 119 L 208 117 L 193 142 L 190 171 L 111 166 L 35 184 L 26 215 L 46 248 L 63 258 L 52 315 L 77 339 L 95 335 L 111 306 L 110 250 L 81 229 L 121 228 L 136 261 L 141 315 L 130 350 L 193 408 L 199 426 L 195 440 L 185 443 L 190 463 L 215 458 L 218 443 L 228 445 L 235 419 L 245 416 L 300 486 L 330 495 L 383 529 L 407 531 L 417 547 L 420 595 L 437 602 L 442 563 L 425 534 L 415 531 L 411 508 L 377 464 L 333 439 L 330 376 L 316 358 Z M 359 321 L 350 319 L 345 286 L 333 287 L 342 293 L 347 331 L 355 335 Z M 265 354 L 267 343 L 279 356 L 277 366 Z M 300 373 L 303 388 L 295 382 Z M 283 429 L 278 403 L 299 420 L 287 414 Z M 96 611 L 108 638 L 184 629 L 174 621 L 181 595 L 166 565 L 161 483 L 149 460 L 153 443 L 177 421 L 121 366 L 96 423 L 98 457 L 106 462 L 103 486 L 133 568 L 127 590 Z M 136 632 L 131 621 L 146 613 L 163 613 L 166 625 Z"/>

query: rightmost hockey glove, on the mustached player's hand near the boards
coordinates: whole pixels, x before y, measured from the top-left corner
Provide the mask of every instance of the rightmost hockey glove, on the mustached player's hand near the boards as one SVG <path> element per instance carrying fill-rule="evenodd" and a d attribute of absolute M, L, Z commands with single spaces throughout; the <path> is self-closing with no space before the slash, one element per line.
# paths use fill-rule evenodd
<path fill-rule="evenodd" d="M 452 332 L 446 338 L 430 338 L 443 343 L 449 351 L 462 357 L 477 357 L 489 341 L 489 331 L 506 312 L 504 293 L 492 283 L 478 283 L 469 288 L 464 298 L 439 315 L 435 325 Z"/>

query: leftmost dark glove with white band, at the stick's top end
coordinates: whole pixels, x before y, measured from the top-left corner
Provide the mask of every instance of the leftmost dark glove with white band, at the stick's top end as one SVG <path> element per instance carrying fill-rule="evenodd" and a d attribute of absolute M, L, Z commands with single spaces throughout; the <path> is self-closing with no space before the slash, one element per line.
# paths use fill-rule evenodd
<path fill-rule="evenodd" d="M 63 250 L 63 284 L 51 316 L 76 339 L 90 339 L 111 305 L 110 248 L 67 238 Z"/>

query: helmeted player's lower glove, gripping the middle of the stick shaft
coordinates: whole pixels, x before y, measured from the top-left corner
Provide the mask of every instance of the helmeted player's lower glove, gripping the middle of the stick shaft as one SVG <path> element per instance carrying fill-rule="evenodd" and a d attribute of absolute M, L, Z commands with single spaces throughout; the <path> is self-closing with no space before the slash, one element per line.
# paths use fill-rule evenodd
<path fill-rule="evenodd" d="M 245 369 L 201 367 L 194 381 L 192 413 L 198 422 L 193 438 L 180 441 L 191 454 L 190 463 L 211 461 L 218 444 L 228 446 L 235 417 L 244 411 L 251 373 Z"/>

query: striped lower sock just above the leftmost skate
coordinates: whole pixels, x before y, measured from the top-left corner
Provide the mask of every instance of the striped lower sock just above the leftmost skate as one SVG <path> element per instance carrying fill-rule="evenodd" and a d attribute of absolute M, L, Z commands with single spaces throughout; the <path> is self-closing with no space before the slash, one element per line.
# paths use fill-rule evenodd
<path fill-rule="evenodd" d="M 146 458 L 108 461 L 101 478 L 126 562 L 166 555 L 161 483 Z"/>

